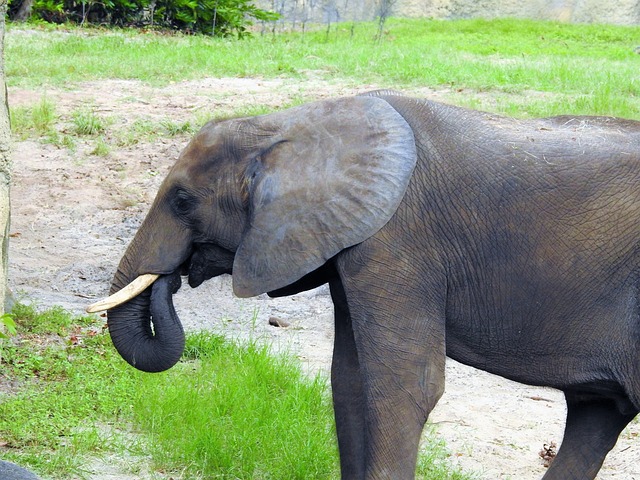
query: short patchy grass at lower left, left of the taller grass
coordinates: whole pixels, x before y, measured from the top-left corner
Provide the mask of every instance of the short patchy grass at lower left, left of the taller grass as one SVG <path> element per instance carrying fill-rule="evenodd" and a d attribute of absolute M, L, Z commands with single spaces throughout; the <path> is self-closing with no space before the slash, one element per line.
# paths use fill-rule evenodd
<path fill-rule="evenodd" d="M 109 445 L 98 422 L 128 415 L 136 375 L 94 317 L 23 304 L 12 313 L 19 335 L 0 347 L 0 383 L 14 385 L 0 396 L 1 455 L 53 478 L 81 474 Z"/>

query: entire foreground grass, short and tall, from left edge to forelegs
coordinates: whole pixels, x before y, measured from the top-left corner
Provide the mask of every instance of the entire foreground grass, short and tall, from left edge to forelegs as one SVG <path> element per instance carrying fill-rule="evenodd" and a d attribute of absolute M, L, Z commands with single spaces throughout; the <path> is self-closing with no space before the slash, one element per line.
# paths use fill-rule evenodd
<path fill-rule="evenodd" d="M 24 304 L 12 313 L 18 336 L 0 344 L 0 383 L 13 385 L 0 391 L 3 459 L 48 479 L 89 478 L 86 465 L 103 457 L 176 480 L 339 476 L 326 379 L 291 356 L 192 333 L 183 361 L 145 374 L 96 317 Z M 447 465 L 442 442 L 423 451 L 418 478 L 470 478 Z"/>

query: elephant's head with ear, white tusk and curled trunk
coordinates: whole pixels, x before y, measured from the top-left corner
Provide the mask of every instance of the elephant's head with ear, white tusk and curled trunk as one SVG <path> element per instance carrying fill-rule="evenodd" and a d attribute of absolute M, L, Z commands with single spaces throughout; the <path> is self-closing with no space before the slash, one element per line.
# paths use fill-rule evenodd
<path fill-rule="evenodd" d="M 180 155 L 120 261 L 116 300 L 92 311 L 110 309 L 111 338 L 127 362 L 165 370 L 184 347 L 172 303 L 180 275 L 196 287 L 232 273 L 240 297 L 286 287 L 382 228 L 415 162 L 411 128 L 380 98 L 211 122 Z"/>

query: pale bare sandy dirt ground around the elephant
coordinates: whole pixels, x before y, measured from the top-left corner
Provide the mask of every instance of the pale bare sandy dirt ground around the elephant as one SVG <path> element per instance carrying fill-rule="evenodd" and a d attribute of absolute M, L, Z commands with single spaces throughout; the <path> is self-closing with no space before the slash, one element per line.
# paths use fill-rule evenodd
<path fill-rule="evenodd" d="M 134 81 L 100 81 L 69 89 L 10 88 L 13 108 L 34 105 L 43 96 L 62 116 L 56 128 L 70 131 L 71 112 L 92 109 L 109 119 L 106 156 L 97 156 L 96 138 L 76 139 L 74 148 L 43 141 L 14 145 L 10 282 L 23 301 L 59 304 L 81 313 L 107 293 L 120 256 L 178 153 L 180 135 L 118 146 L 114 132 L 136 120 L 179 123 L 205 114 L 229 114 L 241 106 L 280 107 L 294 99 L 315 100 L 376 88 L 314 80 L 208 78 L 151 87 Z M 433 99 L 454 93 L 409 92 Z M 121 142 L 122 143 L 122 142 Z M 231 295 L 228 278 L 178 292 L 176 308 L 187 329 L 207 329 L 234 337 L 259 336 L 293 351 L 311 372 L 327 371 L 332 350 L 332 308 L 326 289 L 284 299 Z M 278 317 L 291 326 L 268 325 Z M 450 460 L 482 479 L 529 480 L 545 472 L 539 452 L 560 444 L 565 406 L 561 394 L 532 388 L 449 361 L 444 397 L 430 421 L 444 438 Z M 640 479 L 640 423 L 632 424 L 609 455 L 599 479 Z M 135 479 L 113 459 L 88 468 L 94 480 Z"/>

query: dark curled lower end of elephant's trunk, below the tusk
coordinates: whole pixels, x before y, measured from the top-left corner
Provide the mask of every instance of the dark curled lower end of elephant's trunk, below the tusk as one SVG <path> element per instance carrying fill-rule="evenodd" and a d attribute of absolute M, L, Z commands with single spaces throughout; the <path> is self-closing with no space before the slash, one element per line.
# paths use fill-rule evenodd
<path fill-rule="evenodd" d="M 116 273 L 112 292 L 126 281 Z M 145 372 L 161 372 L 175 365 L 184 350 L 184 331 L 173 307 L 180 288 L 178 273 L 162 275 L 144 292 L 108 312 L 111 340 L 129 364 Z"/>

